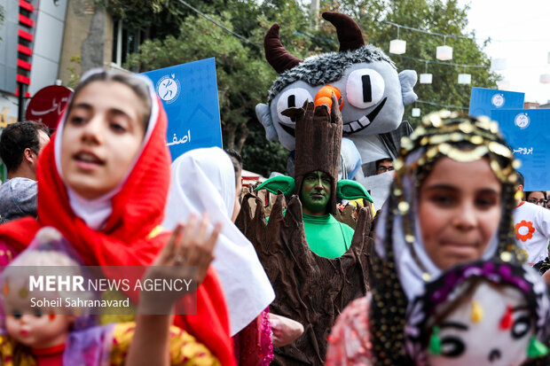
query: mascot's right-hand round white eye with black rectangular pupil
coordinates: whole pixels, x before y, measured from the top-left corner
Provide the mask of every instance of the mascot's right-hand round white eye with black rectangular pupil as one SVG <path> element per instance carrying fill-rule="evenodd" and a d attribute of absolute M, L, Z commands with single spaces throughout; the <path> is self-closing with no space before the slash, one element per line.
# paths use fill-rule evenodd
<path fill-rule="evenodd" d="M 381 74 L 372 68 L 362 68 L 348 76 L 346 97 L 350 105 L 365 109 L 380 102 L 385 88 L 386 84 Z"/>

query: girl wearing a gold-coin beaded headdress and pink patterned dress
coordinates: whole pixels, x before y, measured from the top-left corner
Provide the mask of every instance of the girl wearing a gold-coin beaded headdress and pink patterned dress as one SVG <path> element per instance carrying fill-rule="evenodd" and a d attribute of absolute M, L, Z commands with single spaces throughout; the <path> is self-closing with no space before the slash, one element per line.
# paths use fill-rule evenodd
<path fill-rule="evenodd" d="M 405 312 L 425 283 L 468 261 L 523 261 L 512 230 L 516 164 L 486 118 L 432 113 L 403 138 L 376 226 L 371 292 L 340 315 L 327 365 L 411 364 Z"/>

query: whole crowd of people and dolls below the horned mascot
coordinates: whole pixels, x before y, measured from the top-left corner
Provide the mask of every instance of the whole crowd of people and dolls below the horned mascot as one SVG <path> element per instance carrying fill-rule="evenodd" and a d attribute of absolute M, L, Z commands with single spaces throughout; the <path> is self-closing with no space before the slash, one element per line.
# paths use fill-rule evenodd
<path fill-rule="evenodd" d="M 338 103 L 285 112 L 295 176 L 261 187 L 282 192 L 267 220 L 261 199 L 254 215 L 243 201 L 238 153 L 170 163 L 144 76 L 93 70 L 52 135 L 5 128 L 0 364 L 548 364 L 550 210 L 546 192 L 522 192 L 496 122 L 430 114 L 397 160 L 376 162 L 393 183 L 374 216 L 365 187 L 337 179 Z M 357 200 L 342 223 L 336 203 Z M 112 266 L 164 279 L 193 268 L 196 311 L 178 312 L 171 292 L 125 293 L 130 322 L 33 308 L 16 268 L 52 265 L 111 279 Z"/>

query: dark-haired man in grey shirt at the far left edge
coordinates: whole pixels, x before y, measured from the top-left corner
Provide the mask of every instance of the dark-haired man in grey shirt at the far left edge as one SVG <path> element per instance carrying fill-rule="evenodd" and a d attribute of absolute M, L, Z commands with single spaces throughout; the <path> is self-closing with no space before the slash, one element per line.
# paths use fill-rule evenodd
<path fill-rule="evenodd" d="M 0 136 L 0 158 L 8 179 L 0 186 L 0 220 L 36 216 L 36 163 L 43 147 L 50 142 L 43 123 L 20 121 L 4 128 Z"/>

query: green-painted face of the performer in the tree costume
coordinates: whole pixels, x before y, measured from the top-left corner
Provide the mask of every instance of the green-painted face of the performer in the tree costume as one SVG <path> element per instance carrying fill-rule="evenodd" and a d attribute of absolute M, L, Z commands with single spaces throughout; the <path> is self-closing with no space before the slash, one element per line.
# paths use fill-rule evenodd
<path fill-rule="evenodd" d="M 331 190 L 332 179 L 330 175 L 318 170 L 305 175 L 300 191 L 303 213 L 316 216 L 326 214 Z"/>

